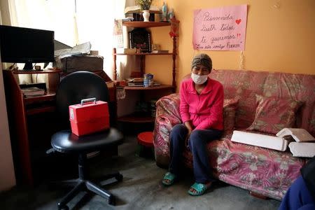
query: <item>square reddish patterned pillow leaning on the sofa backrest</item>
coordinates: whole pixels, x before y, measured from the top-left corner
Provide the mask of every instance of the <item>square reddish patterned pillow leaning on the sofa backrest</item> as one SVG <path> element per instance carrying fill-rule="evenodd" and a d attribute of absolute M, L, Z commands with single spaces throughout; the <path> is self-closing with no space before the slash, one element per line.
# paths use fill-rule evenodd
<path fill-rule="evenodd" d="M 295 113 L 302 102 L 290 98 L 263 97 L 256 94 L 255 119 L 246 130 L 276 134 L 284 127 L 293 127 Z"/>

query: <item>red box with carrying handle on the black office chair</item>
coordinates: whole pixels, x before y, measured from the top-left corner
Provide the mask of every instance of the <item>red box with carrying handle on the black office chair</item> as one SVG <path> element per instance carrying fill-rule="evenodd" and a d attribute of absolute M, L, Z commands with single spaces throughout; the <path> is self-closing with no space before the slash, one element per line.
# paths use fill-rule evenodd
<path fill-rule="evenodd" d="M 77 136 L 106 130 L 109 128 L 109 105 L 94 98 L 83 99 L 81 104 L 69 106 L 69 118 L 71 131 Z"/>

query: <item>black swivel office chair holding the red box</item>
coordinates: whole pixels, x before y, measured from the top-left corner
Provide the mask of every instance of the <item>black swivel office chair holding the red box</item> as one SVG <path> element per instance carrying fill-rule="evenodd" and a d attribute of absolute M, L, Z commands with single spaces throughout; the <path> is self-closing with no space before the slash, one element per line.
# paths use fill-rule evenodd
<path fill-rule="evenodd" d="M 66 120 L 69 124 L 69 105 L 78 104 L 81 99 L 91 97 L 109 102 L 109 91 L 101 77 L 91 72 L 78 71 L 63 78 L 56 93 L 57 111 L 61 114 L 62 120 Z M 63 181 L 63 183 L 74 186 L 74 188 L 58 203 L 58 209 L 69 209 L 66 204 L 82 190 L 90 190 L 106 198 L 109 204 L 115 204 L 115 197 L 111 193 L 87 180 L 87 153 L 100 151 L 102 148 L 118 146 L 122 142 L 123 134 L 113 127 L 104 132 L 88 134 L 82 137 L 72 134 L 71 130 L 63 130 L 53 134 L 50 152 L 57 151 L 59 153 L 78 155 L 79 177 L 75 180 Z M 123 180 L 123 175 L 118 172 L 103 177 L 104 179 L 116 178 L 117 181 Z"/>

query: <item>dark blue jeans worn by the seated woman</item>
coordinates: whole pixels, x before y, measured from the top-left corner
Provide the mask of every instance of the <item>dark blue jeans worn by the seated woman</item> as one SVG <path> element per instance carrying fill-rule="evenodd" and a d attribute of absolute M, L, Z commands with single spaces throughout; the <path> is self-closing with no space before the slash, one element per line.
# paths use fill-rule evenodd
<path fill-rule="evenodd" d="M 171 131 L 171 162 L 169 172 L 179 176 L 179 170 L 183 160 L 183 149 L 188 129 L 183 124 L 175 125 Z M 189 148 L 193 153 L 193 170 L 197 183 L 214 181 L 212 169 L 209 165 L 207 143 L 221 137 L 221 130 L 194 130 L 190 134 Z"/>

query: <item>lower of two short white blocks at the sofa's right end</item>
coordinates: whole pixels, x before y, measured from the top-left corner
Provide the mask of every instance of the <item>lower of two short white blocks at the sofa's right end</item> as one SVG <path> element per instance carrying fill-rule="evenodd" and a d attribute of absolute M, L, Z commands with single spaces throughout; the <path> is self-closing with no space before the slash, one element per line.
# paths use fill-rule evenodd
<path fill-rule="evenodd" d="M 313 158 L 315 156 L 315 143 L 291 142 L 289 148 L 294 157 Z"/>

